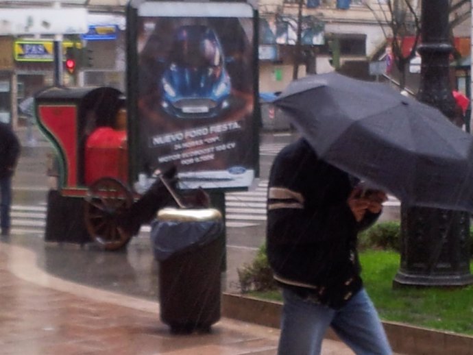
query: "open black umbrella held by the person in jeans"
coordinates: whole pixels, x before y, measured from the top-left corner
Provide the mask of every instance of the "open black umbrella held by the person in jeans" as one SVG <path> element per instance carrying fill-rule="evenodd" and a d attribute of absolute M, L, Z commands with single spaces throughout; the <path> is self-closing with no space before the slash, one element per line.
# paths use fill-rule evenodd
<path fill-rule="evenodd" d="M 473 137 L 436 108 L 338 73 L 295 80 L 274 101 L 317 155 L 406 204 L 473 210 Z"/>

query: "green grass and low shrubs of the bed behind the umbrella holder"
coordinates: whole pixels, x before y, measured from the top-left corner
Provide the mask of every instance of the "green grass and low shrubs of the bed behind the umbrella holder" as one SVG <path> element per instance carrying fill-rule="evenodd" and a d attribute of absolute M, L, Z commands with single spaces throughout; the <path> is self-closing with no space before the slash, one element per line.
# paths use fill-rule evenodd
<path fill-rule="evenodd" d="M 374 231 L 376 233 L 362 237 L 364 245 L 360 261 L 365 288 L 381 319 L 473 336 L 473 285 L 450 289 L 393 289 L 393 278 L 400 265 L 396 225 L 378 225 Z M 473 273 L 473 264 L 470 269 Z M 271 283 L 264 246 L 254 264 L 247 265 L 239 273 L 241 280 L 246 282 L 243 293 L 282 301 L 280 291 Z"/>

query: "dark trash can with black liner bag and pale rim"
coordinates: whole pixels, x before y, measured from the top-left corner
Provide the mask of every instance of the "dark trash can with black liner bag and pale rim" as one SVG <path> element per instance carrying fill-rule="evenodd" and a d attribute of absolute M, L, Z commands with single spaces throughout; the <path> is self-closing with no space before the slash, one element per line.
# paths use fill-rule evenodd
<path fill-rule="evenodd" d="M 210 332 L 220 319 L 223 221 L 213 208 L 163 208 L 151 223 L 160 319 L 173 334 Z"/>

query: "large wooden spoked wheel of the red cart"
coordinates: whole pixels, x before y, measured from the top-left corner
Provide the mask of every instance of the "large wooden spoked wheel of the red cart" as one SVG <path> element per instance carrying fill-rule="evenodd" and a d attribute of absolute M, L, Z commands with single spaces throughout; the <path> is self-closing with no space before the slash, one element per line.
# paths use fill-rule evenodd
<path fill-rule="evenodd" d="M 88 188 L 85 198 L 86 228 L 106 250 L 117 250 L 131 234 L 119 228 L 119 219 L 133 204 L 132 192 L 113 177 L 101 177 Z"/>

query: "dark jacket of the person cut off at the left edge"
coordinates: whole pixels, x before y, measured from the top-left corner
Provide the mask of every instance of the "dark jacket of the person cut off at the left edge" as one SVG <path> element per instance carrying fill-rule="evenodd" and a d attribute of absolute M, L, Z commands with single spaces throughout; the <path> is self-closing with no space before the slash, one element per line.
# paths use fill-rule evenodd
<path fill-rule="evenodd" d="M 14 173 L 20 154 L 20 142 L 10 125 L 0 123 L 0 178 Z"/>

